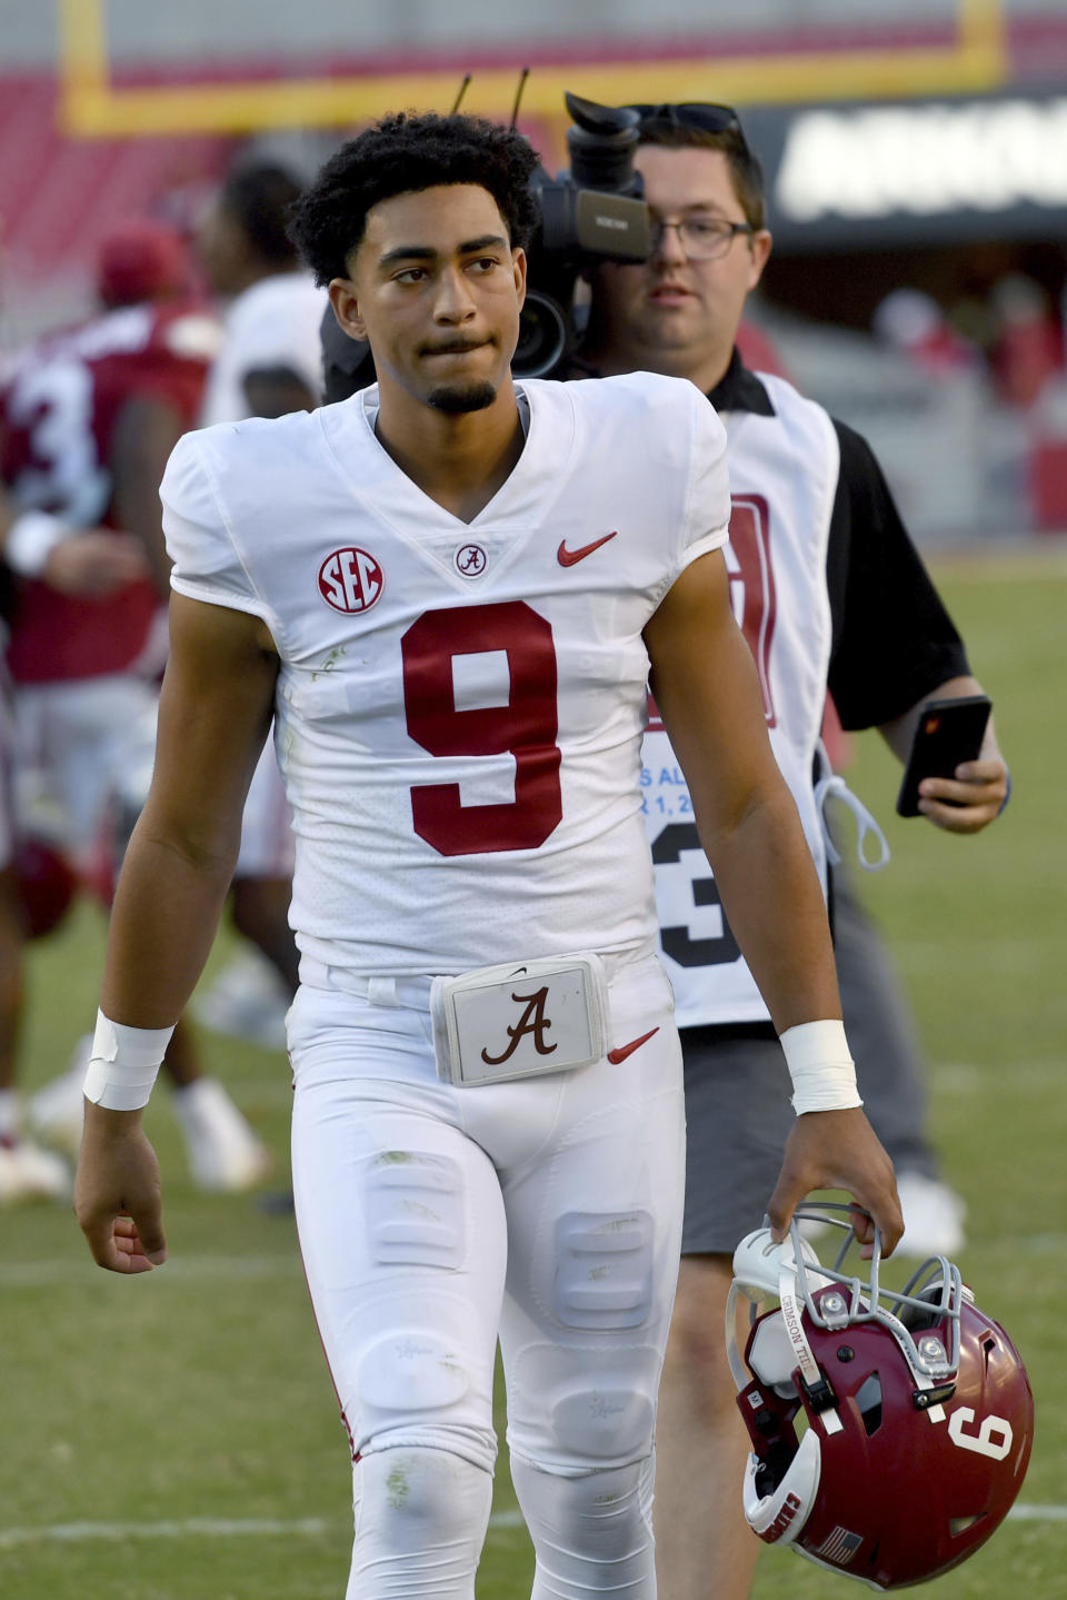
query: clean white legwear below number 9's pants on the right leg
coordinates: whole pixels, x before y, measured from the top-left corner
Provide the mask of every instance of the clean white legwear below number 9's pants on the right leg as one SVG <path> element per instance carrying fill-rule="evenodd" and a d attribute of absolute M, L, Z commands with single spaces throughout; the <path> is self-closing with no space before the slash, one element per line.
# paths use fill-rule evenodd
<path fill-rule="evenodd" d="M 649 1600 L 653 1458 L 605 1472 L 544 1472 L 512 1451 L 512 1482 L 537 1555 L 531 1600 Z"/>

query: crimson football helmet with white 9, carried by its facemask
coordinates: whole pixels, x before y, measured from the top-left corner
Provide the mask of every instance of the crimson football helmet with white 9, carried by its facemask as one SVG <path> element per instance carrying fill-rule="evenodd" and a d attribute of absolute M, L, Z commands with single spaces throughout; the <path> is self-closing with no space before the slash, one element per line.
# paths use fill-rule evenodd
<path fill-rule="evenodd" d="M 805 1206 L 781 1245 L 765 1227 L 734 1253 L 726 1344 L 752 1438 L 744 1514 L 768 1544 L 905 1589 L 966 1560 L 1008 1515 L 1033 1398 L 1011 1339 L 944 1256 L 888 1290 L 875 1234 L 867 1280 L 841 1272 L 846 1218 Z M 845 1230 L 833 1267 L 798 1219 Z M 744 1360 L 739 1296 L 753 1302 Z M 771 1296 L 777 1307 L 760 1312 Z"/>

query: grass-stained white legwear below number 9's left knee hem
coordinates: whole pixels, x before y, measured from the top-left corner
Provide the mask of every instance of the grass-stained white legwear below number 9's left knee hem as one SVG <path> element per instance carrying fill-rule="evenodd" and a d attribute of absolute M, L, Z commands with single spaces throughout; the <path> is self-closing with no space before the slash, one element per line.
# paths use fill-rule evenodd
<path fill-rule="evenodd" d="M 355 1541 L 346 1600 L 474 1600 L 493 1478 L 446 1450 L 398 1446 L 354 1469 Z"/>

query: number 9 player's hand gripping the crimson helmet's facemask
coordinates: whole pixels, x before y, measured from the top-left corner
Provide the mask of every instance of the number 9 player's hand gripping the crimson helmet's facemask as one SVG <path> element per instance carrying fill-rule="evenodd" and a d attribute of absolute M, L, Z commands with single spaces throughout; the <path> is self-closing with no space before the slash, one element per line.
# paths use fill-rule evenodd
<path fill-rule="evenodd" d="M 813 1189 L 845 1189 L 870 1213 L 853 1211 L 861 1256 L 872 1254 L 875 1222 L 883 1254 L 893 1254 L 904 1232 L 893 1162 L 859 1107 L 809 1110 L 790 1128 L 782 1171 L 766 1208 L 774 1240 L 785 1237 L 793 1211 Z"/>

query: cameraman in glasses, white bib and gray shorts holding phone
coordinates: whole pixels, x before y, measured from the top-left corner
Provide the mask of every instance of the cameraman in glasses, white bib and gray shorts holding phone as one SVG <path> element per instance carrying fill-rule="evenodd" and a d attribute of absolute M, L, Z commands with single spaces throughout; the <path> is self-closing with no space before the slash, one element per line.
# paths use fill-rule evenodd
<path fill-rule="evenodd" d="M 742 597 L 771 742 L 825 880 L 811 773 L 827 688 L 845 728 L 878 726 L 904 758 L 920 702 L 979 686 L 867 443 L 790 384 L 747 371 L 736 350 L 745 298 L 771 251 L 760 166 L 736 114 L 696 104 L 638 109 L 635 165 L 653 254 L 592 274 L 581 368 L 688 378 L 726 426 L 736 605 Z M 760 1546 L 741 1510 L 749 1442 L 723 1317 L 734 1245 L 761 1224 L 793 1114 L 774 1030 L 758 1021 L 766 1011 L 744 962 L 733 958 L 729 930 L 723 922 L 718 939 L 686 930 L 694 885 L 680 862 L 689 845 L 685 826 L 665 822 L 685 814 L 685 790 L 657 787 L 675 766 L 662 758 L 665 734 L 654 728 L 653 720 L 645 795 L 662 862 L 657 896 L 681 1026 L 689 1150 L 656 1437 L 657 1574 L 670 1600 L 742 1600 Z M 953 779 L 926 779 L 921 792 L 921 810 L 937 827 L 985 827 L 1008 794 L 992 728 L 981 760 Z M 697 904 L 713 904 L 707 870 L 697 869 Z M 862 1091 L 864 1054 L 854 1053 Z"/>

